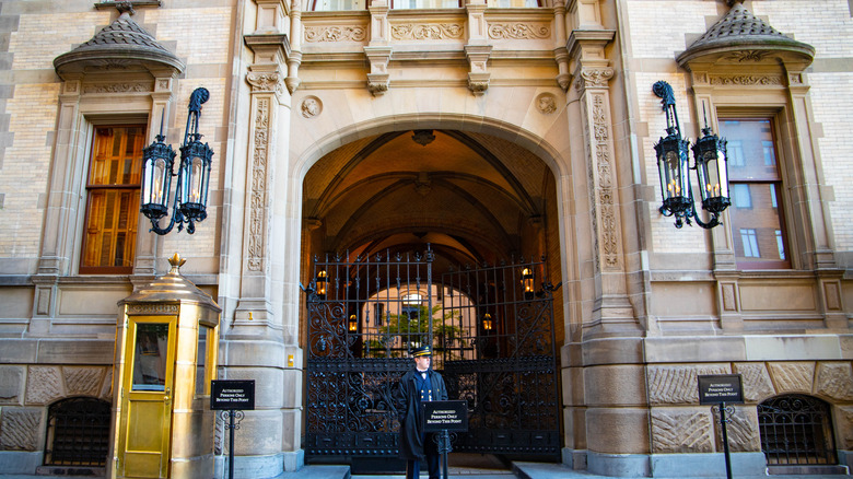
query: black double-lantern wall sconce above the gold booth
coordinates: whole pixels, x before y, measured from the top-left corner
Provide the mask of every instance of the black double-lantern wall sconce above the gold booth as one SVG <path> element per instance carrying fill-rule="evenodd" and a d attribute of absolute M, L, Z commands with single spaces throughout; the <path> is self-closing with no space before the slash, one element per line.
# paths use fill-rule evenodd
<path fill-rule="evenodd" d="M 160 119 L 160 135 L 156 141 L 142 150 L 142 188 L 139 210 L 151 220 L 151 231 L 164 235 L 177 223 L 178 231 L 187 225 L 187 233 L 196 232 L 195 222 L 208 218 L 208 190 L 210 189 L 210 166 L 213 164 L 213 151 L 201 141 L 198 132 L 198 121 L 201 115 L 201 104 L 207 102 L 210 93 L 207 89 L 196 89 L 189 95 L 189 115 L 184 132 L 184 144 L 180 147 L 180 165 L 175 174 L 175 150 L 163 140 L 164 116 Z M 172 177 L 177 176 L 175 199 L 172 203 L 172 220 L 165 229 L 160 227 L 160 219 L 168 213 L 168 197 L 172 189 Z"/>

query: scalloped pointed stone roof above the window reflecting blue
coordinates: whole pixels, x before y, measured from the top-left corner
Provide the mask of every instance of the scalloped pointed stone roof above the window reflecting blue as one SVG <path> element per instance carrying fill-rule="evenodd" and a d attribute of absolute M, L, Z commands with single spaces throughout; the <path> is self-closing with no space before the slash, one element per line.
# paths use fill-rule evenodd
<path fill-rule="evenodd" d="M 809 63 L 815 58 L 815 48 L 810 45 L 780 33 L 753 15 L 743 3 L 736 3 L 723 19 L 678 56 L 678 63 L 683 66 L 700 57 L 735 52 L 744 52 L 736 56 L 739 61 L 744 58 L 761 59 L 772 52 L 793 55 Z"/>

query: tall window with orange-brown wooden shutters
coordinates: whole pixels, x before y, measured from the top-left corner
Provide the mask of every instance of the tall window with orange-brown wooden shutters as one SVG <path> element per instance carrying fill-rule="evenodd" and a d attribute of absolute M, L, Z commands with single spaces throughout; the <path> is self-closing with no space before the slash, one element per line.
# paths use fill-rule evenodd
<path fill-rule="evenodd" d="M 145 127 L 97 126 L 86 180 L 81 273 L 130 273 Z"/>

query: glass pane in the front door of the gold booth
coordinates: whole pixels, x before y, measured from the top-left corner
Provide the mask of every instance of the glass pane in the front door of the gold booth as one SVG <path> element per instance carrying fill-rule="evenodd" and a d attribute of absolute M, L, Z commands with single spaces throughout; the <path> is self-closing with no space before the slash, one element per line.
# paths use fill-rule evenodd
<path fill-rule="evenodd" d="M 133 390 L 165 390 L 167 351 L 168 325 L 137 325 Z"/>

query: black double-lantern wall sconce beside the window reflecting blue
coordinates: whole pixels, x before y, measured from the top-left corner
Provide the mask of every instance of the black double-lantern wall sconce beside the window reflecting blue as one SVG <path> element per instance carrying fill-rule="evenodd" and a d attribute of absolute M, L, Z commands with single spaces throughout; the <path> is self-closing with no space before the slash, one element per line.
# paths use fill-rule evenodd
<path fill-rule="evenodd" d="M 720 214 L 732 205 L 728 196 L 726 140 L 711 135 L 711 128 L 705 119 L 705 127 L 702 128 L 704 136 L 692 147 L 694 165 L 691 168 L 687 153 L 689 142 L 681 138 L 673 87 L 665 81 L 658 81 L 652 91 L 662 98 L 661 104 L 666 112 L 667 136 L 661 138 L 655 144 L 657 171 L 661 175 L 661 196 L 664 202 L 659 211 L 665 217 L 675 215 L 676 227 L 681 227 L 682 221 L 692 224 L 690 222 L 692 218 L 697 224 L 710 230 L 720 224 Z M 689 170 L 697 172 L 702 209 L 711 214 L 711 220 L 706 223 L 699 219 L 693 205 Z"/>

